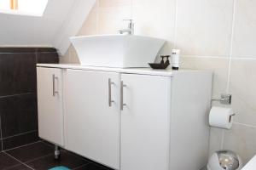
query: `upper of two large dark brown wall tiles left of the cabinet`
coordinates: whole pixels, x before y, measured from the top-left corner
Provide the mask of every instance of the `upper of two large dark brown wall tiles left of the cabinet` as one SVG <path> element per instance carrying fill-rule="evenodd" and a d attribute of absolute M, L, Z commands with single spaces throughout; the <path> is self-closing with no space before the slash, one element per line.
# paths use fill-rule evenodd
<path fill-rule="evenodd" d="M 36 92 L 36 54 L 0 54 L 0 96 Z"/>

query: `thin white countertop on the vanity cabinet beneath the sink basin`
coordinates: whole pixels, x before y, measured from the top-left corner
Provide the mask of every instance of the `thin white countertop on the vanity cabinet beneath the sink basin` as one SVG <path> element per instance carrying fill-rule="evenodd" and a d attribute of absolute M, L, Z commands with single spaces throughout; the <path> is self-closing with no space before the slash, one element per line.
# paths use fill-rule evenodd
<path fill-rule="evenodd" d="M 184 73 L 184 72 L 199 71 L 199 70 L 173 71 L 172 69 L 153 70 L 151 68 L 111 68 L 111 67 L 84 66 L 84 65 L 73 65 L 73 64 L 38 64 L 37 66 L 49 67 L 49 68 L 84 70 L 84 71 L 108 71 L 108 72 L 119 72 L 119 73 L 128 73 L 128 74 L 129 73 L 143 74 L 143 75 L 164 76 L 164 77 L 172 77 L 175 74 Z"/>

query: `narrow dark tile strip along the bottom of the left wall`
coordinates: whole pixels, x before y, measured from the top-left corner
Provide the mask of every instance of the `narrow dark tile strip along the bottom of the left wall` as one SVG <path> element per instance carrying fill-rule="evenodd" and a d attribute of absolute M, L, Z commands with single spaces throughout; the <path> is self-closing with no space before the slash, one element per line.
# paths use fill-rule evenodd
<path fill-rule="evenodd" d="M 3 139 L 3 150 L 13 149 L 25 144 L 38 141 L 38 132 L 20 134 L 11 138 Z"/>

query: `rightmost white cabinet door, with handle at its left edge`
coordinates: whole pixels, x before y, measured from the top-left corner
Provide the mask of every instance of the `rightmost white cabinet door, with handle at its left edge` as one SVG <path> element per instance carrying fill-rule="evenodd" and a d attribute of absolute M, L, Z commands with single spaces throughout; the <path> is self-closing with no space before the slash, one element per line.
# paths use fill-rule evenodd
<path fill-rule="evenodd" d="M 121 80 L 121 170 L 167 170 L 171 79 L 122 74 Z"/>

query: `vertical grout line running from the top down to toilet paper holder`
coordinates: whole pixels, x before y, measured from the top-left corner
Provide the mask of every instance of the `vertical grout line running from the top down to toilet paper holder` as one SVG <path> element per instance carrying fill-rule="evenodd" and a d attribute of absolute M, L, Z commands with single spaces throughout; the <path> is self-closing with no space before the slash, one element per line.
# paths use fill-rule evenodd
<path fill-rule="evenodd" d="M 230 60 L 229 60 L 229 71 L 228 71 L 228 81 L 226 93 L 230 92 L 230 76 L 231 76 L 231 63 L 232 63 L 232 55 L 233 55 L 233 42 L 234 42 L 234 31 L 235 31 L 235 21 L 236 21 L 236 3 L 237 0 L 233 0 L 233 15 L 232 15 L 232 29 L 231 29 L 231 39 L 230 39 Z"/>

